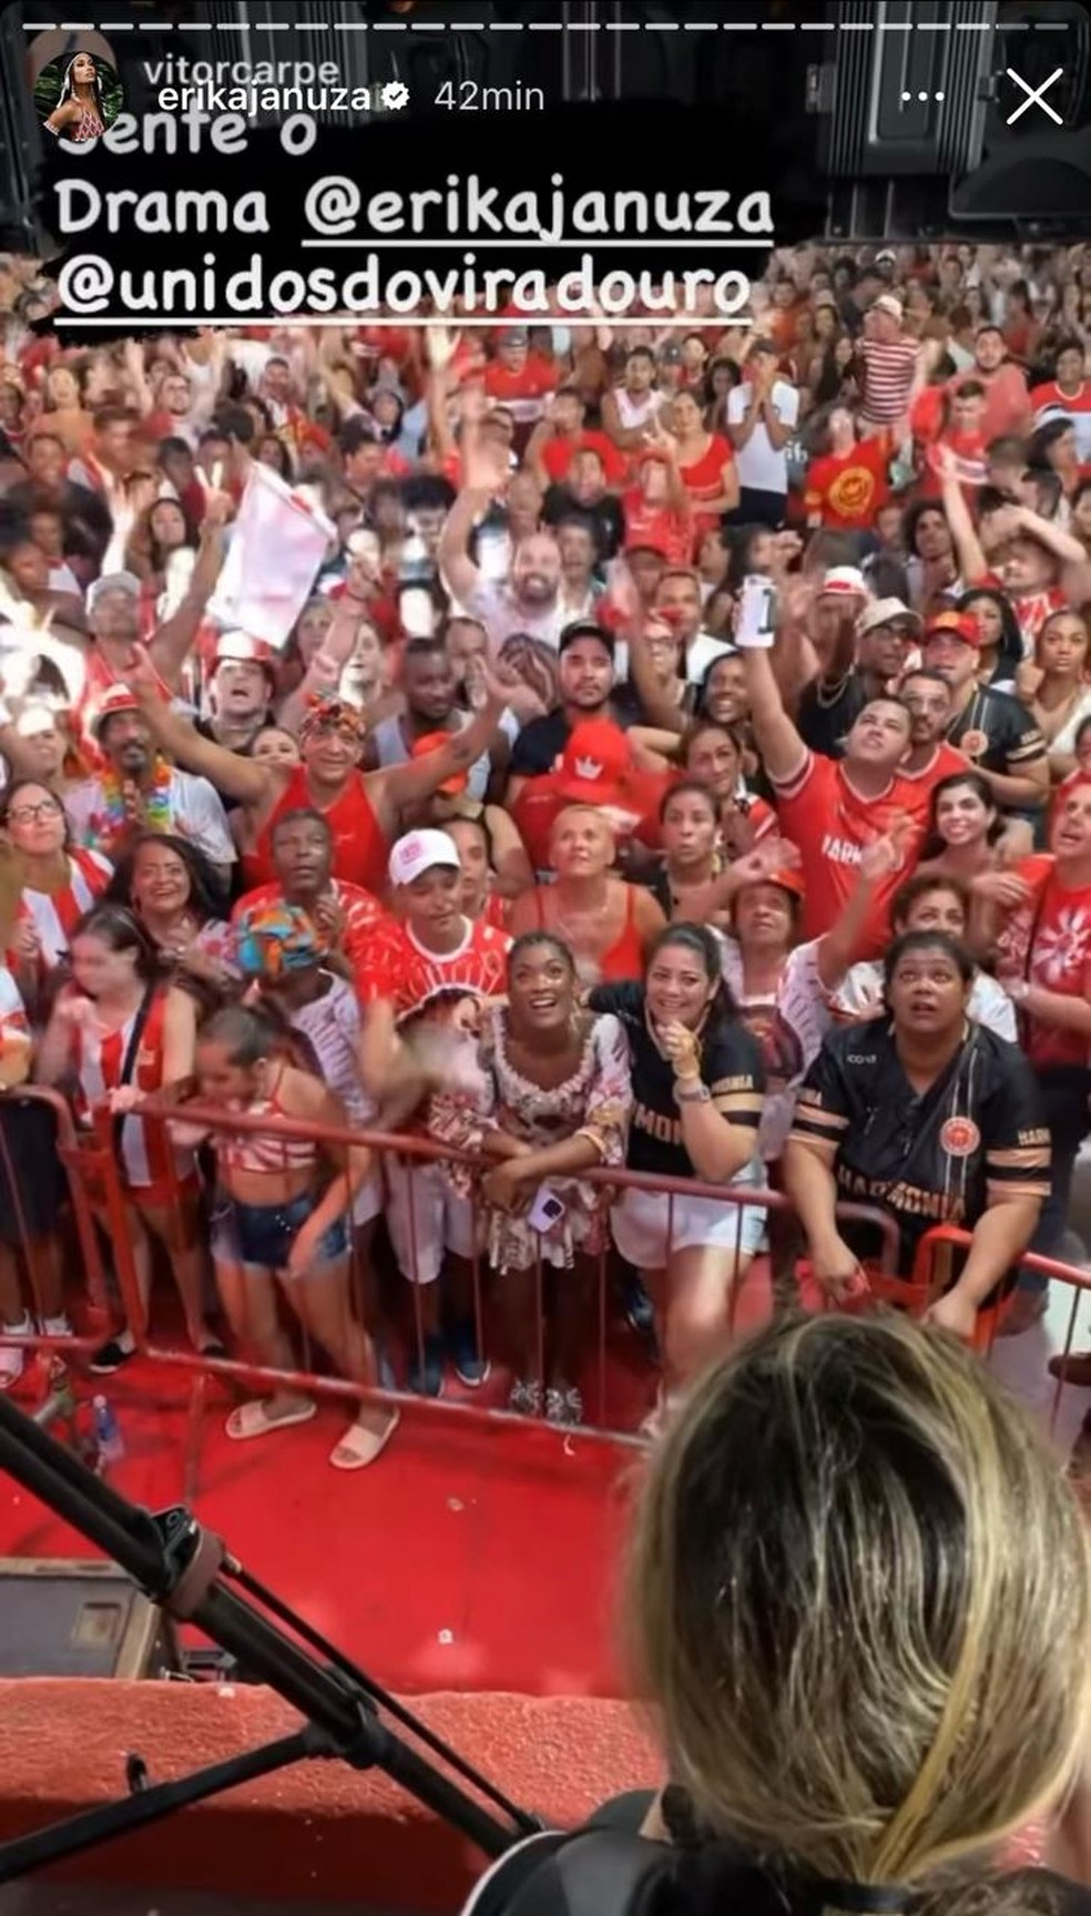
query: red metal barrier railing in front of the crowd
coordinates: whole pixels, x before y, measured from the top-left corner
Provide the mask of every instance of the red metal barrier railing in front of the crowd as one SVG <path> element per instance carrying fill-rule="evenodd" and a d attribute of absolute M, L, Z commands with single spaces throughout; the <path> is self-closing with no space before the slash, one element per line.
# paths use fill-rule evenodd
<path fill-rule="evenodd" d="M 113 1259 L 113 1276 L 117 1280 L 117 1291 L 121 1297 L 121 1309 L 125 1320 L 136 1341 L 136 1349 L 144 1358 L 153 1364 L 169 1366 L 173 1370 L 186 1370 L 192 1374 L 192 1397 L 190 1397 L 190 1433 L 186 1447 L 186 1494 L 194 1494 L 197 1458 L 203 1418 L 207 1410 L 207 1389 L 211 1380 L 222 1380 L 232 1385 L 242 1385 L 247 1389 L 272 1391 L 272 1393 L 303 1393 L 313 1399 L 343 1399 L 347 1404 L 366 1404 L 366 1403 L 391 1403 L 403 1404 L 412 1403 L 422 1410 L 441 1410 L 447 1414 L 456 1414 L 462 1418 L 479 1418 L 489 1424 L 504 1422 L 525 1422 L 527 1414 L 535 1418 L 545 1412 L 545 1391 L 539 1391 L 537 1399 L 531 1399 L 533 1410 L 527 1404 L 512 1408 L 495 1401 L 495 1389 L 481 1391 L 479 1395 L 466 1395 L 462 1399 L 451 1397 L 429 1397 L 416 1391 L 389 1387 L 378 1381 L 374 1376 L 332 1376 L 314 1364 L 314 1347 L 326 1347 L 330 1353 L 330 1343 L 343 1343 L 341 1332 L 347 1332 L 349 1324 L 362 1324 L 364 1332 L 374 1337 L 376 1332 L 385 1328 L 385 1318 L 382 1312 L 376 1316 L 374 1291 L 368 1288 L 368 1272 L 360 1270 L 360 1261 L 366 1259 L 366 1245 L 360 1257 L 360 1245 L 364 1232 L 355 1232 L 355 1255 L 353 1255 L 353 1280 L 343 1297 L 343 1324 L 330 1320 L 326 1326 L 328 1335 L 322 1335 L 322 1326 L 316 1326 L 307 1314 L 299 1318 L 299 1335 L 303 1360 L 295 1362 L 267 1362 L 253 1360 L 244 1355 L 215 1357 L 209 1353 L 197 1353 L 194 1349 L 178 1349 L 176 1345 L 159 1341 L 151 1332 L 151 1311 L 150 1311 L 150 1291 L 140 1280 L 134 1238 L 132 1238 L 132 1211 L 134 1198 L 127 1190 L 117 1148 L 115 1148 L 115 1115 L 107 1107 L 100 1107 L 94 1113 L 94 1129 L 90 1136 L 82 1140 L 77 1136 L 71 1115 L 63 1098 L 56 1092 L 33 1090 L 27 1096 L 35 1096 L 52 1106 L 58 1123 L 59 1157 L 65 1163 L 69 1176 L 71 1209 L 77 1226 L 77 1238 L 81 1255 L 84 1261 L 84 1274 L 88 1284 L 88 1295 L 92 1305 L 92 1320 L 100 1326 L 107 1322 L 107 1284 L 104 1274 L 104 1259 L 100 1245 L 100 1230 L 96 1219 L 105 1226 L 109 1238 L 109 1251 Z M 418 1364 L 428 1349 L 428 1339 L 431 1332 L 429 1311 L 435 1309 L 435 1301 L 441 1295 L 439 1286 L 443 1278 L 435 1284 L 422 1282 L 420 1259 L 422 1251 L 433 1251 L 433 1242 L 429 1245 L 420 1243 L 420 1220 L 435 1222 L 435 1205 L 443 1199 L 447 1184 L 451 1188 L 458 1186 L 464 1201 L 470 1207 L 470 1222 L 474 1230 L 470 1257 L 464 1259 L 468 1266 L 464 1272 L 466 1280 L 466 1309 L 468 1322 L 474 1332 L 474 1347 L 479 1360 L 491 1360 L 497 1355 L 510 1358 L 506 1351 L 506 1326 L 502 1326 L 502 1311 L 499 1309 L 499 1293 L 510 1284 L 510 1272 L 493 1274 L 489 1282 L 489 1261 L 485 1255 L 485 1217 L 487 1207 L 474 1201 L 476 1186 L 487 1169 L 493 1169 L 495 1161 L 483 1161 L 479 1155 L 468 1152 L 456 1152 L 443 1148 L 422 1136 L 405 1136 L 389 1132 L 372 1130 L 341 1130 L 336 1127 L 316 1127 L 305 1125 L 293 1119 L 276 1117 L 268 1119 L 263 1115 L 242 1115 L 224 1113 L 221 1107 L 203 1106 L 199 1102 L 186 1102 L 184 1106 L 173 1102 L 169 1096 L 146 1100 L 140 1106 L 140 1121 L 144 1125 L 161 1127 L 182 1121 L 186 1127 L 199 1127 L 213 1140 L 224 1136 L 245 1136 L 263 1134 L 276 1136 L 282 1142 L 307 1142 L 316 1148 L 328 1146 L 339 1153 L 353 1148 L 366 1146 L 378 1159 L 380 1165 L 397 1167 L 403 1184 L 408 1186 L 408 1196 L 403 1192 L 401 1201 L 401 1261 L 408 1263 L 408 1282 L 403 1291 L 401 1318 L 408 1314 L 406 1345 L 410 1362 L 416 1358 Z M 429 1178 L 429 1192 L 426 1196 L 424 1207 L 418 1205 L 418 1192 L 414 1188 L 418 1178 Z M 447 1180 L 447 1184 L 445 1184 Z M 583 1360 L 583 1376 L 589 1370 L 594 1372 L 592 1406 L 591 1418 L 587 1422 L 571 1424 L 558 1422 L 558 1429 L 566 1435 L 577 1431 L 581 1437 L 591 1441 L 608 1441 L 615 1445 L 638 1445 L 640 1437 L 629 1424 L 617 1418 L 617 1391 L 610 1385 L 610 1357 L 617 1357 L 617 1339 L 612 1339 L 612 1318 L 614 1295 L 615 1295 L 615 1253 L 610 1249 L 606 1232 L 606 1211 L 612 1201 L 623 1192 L 646 1194 L 660 1201 L 663 1209 L 662 1232 L 665 1243 L 665 1261 L 677 1247 L 679 1236 L 686 1234 L 686 1224 L 692 1220 L 692 1207 L 696 1205 L 715 1205 L 719 1213 L 731 1213 L 731 1232 L 721 1232 L 723 1249 L 734 1249 L 738 1255 L 744 1249 L 746 1220 L 755 1209 L 763 1209 L 769 1217 L 784 1226 L 792 1224 L 792 1211 L 782 1198 L 782 1194 L 757 1188 L 738 1188 L 717 1184 L 704 1184 L 692 1178 L 656 1178 L 633 1171 L 581 1171 L 575 1180 L 583 1192 L 592 1192 L 598 1209 L 598 1230 L 587 1228 L 585 1242 L 592 1245 L 592 1251 L 583 1259 L 583 1295 L 587 1299 L 587 1345 Z M 182 1213 L 186 1205 L 192 1203 L 190 1194 L 184 1186 L 174 1180 L 171 1194 L 171 1203 Z M 431 1207 L 431 1209 L 429 1209 Z M 376 1211 L 385 1211 L 389 1215 L 389 1180 L 387 1194 L 376 1203 Z M 926 1309 L 926 1303 L 941 1288 L 943 1272 L 940 1263 L 932 1263 L 938 1253 L 949 1255 L 953 1245 L 968 1243 L 968 1234 L 940 1226 L 926 1234 L 922 1255 L 913 1272 L 911 1280 L 901 1280 L 894 1276 L 897 1268 L 897 1226 L 894 1220 L 867 1205 L 844 1205 L 840 1215 L 846 1219 L 857 1219 L 870 1224 L 876 1232 L 876 1242 L 880 1245 L 878 1263 L 872 1272 L 872 1297 L 890 1297 L 899 1307 L 911 1309 L 915 1312 Z M 466 1222 L 462 1219 L 462 1222 Z M 583 1219 L 591 1226 L 591 1215 Z M 192 1219 L 190 1219 L 192 1224 Z M 441 1245 L 443 1249 L 443 1245 Z M 930 1261 L 930 1268 L 922 1259 Z M 1064 1282 L 1072 1288 L 1072 1311 L 1068 1322 L 1068 1335 L 1064 1353 L 1072 1351 L 1076 1337 L 1076 1322 L 1079 1311 L 1081 1293 L 1091 1291 L 1091 1276 L 1076 1270 L 1074 1266 L 1062 1265 L 1055 1259 L 1043 1259 L 1028 1253 L 1022 1261 L 1024 1266 L 1041 1270 L 1043 1274 Z M 414 1280 L 416 1278 L 416 1280 Z M 543 1240 L 537 1236 L 537 1247 L 531 1266 L 522 1272 L 523 1293 L 529 1286 L 531 1303 L 531 1326 L 527 1343 L 533 1343 L 533 1370 L 539 1383 L 548 1378 L 550 1366 L 550 1339 L 554 1335 L 554 1307 L 558 1297 L 558 1288 L 573 1284 L 569 1270 L 554 1270 L 548 1257 L 543 1255 Z M 307 1278 L 297 1280 L 301 1286 Z M 31 1288 L 33 1288 L 31 1272 Z M 431 1293 L 431 1295 L 428 1295 Z M 33 1289 L 33 1295 L 35 1289 Z M 790 1295 L 784 1295 L 790 1301 Z M 406 1312 L 408 1305 L 408 1312 Z M 775 1309 L 775 1286 L 765 1259 L 755 1259 L 746 1274 L 734 1282 L 727 1291 L 727 1324 L 725 1335 L 738 1335 L 748 1328 L 755 1328 L 759 1322 L 767 1322 Z M 660 1314 L 660 1326 L 663 1316 Z M 594 1324 L 594 1339 L 591 1341 L 591 1324 Z M 500 1328 L 499 1328 L 500 1326 Z M 980 1349 L 986 1357 L 993 1351 L 995 1335 L 999 1330 L 997 1316 L 982 1318 Z M 4 1341 L 0 1334 L 0 1341 Z M 81 1335 L 71 1339 L 50 1339 L 35 1334 L 21 1343 L 33 1351 L 71 1351 L 86 1353 L 94 1347 L 100 1337 Z M 286 1345 L 282 1345 L 288 1349 Z M 631 1347 L 629 1347 L 631 1349 Z M 288 1351 L 290 1358 L 293 1357 Z M 506 1366 L 510 1368 L 510 1364 Z M 648 1362 L 648 1385 L 654 1376 L 654 1364 Z M 1066 1385 L 1058 1380 L 1055 1391 L 1055 1416 L 1060 1404 Z M 614 1403 L 612 1403 L 614 1399 Z M 539 1408 L 541 1406 L 541 1408 Z"/>

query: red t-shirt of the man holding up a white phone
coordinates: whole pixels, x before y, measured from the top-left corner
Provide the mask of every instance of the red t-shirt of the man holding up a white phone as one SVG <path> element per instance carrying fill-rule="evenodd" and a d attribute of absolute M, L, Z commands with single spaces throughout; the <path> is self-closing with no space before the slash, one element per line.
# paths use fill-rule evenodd
<path fill-rule="evenodd" d="M 809 751 L 792 780 L 777 789 L 780 832 L 800 847 L 803 860 L 803 922 L 800 941 L 821 939 L 838 922 L 857 883 L 865 845 L 913 820 L 901 841 L 901 864 L 872 891 L 870 910 L 855 958 L 878 958 L 890 943 L 890 901 L 909 878 L 920 853 L 915 797 L 901 778 L 892 778 L 880 797 L 865 797 L 851 784 L 842 759 Z"/>

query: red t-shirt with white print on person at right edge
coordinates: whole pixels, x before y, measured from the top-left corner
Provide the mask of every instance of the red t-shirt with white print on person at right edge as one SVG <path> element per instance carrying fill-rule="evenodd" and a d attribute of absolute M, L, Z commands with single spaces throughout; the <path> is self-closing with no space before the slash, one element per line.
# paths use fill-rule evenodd
<path fill-rule="evenodd" d="M 1091 1002 L 1091 885 L 1072 891 L 1060 883 L 1056 858 L 1035 853 L 1014 866 L 1032 889 L 1032 899 L 1007 920 L 999 939 L 999 969 L 1026 977 L 1043 991 Z M 1087 1065 L 1087 1035 L 1064 1031 L 1024 1015 L 1022 1040 L 1035 1069 L 1043 1065 Z"/>

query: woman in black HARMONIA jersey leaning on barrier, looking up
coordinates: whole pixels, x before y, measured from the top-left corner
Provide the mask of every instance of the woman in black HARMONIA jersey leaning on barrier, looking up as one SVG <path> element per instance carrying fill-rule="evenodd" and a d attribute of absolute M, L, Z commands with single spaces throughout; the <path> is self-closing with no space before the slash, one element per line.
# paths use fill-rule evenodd
<path fill-rule="evenodd" d="M 926 1230 L 972 1232 L 928 1311 L 961 1337 L 1014 1286 L 1049 1198 L 1037 1083 L 1018 1046 L 966 1015 L 972 979 L 970 958 L 943 933 L 895 939 L 884 964 L 890 1015 L 830 1031 L 784 1150 L 815 1276 L 838 1297 L 859 1288 L 861 1259 L 880 1249 L 872 1226 L 842 1226 L 840 1201 L 894 1217 L 903 1278 Z"/>

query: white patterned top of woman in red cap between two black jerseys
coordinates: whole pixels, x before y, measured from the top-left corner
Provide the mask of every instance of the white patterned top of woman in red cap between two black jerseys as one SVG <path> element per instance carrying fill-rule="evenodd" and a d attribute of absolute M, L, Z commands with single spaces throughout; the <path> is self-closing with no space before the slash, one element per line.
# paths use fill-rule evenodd
<path fill-rule="evenodd" d="M 826 987 L 819 977 L 819 945 L 796 945 L 788 952 L 775 992 L 748 996 L 742 987 L 742 952 L 734 939 L 723 939 L 723 975 L 738 1004 L 746 1029 L 757 1038 L 765 1061 L 765 1104 L 757 1129 L 757 1153 L 775 1163 L 796 1113 L 796 1092 L 819 1056 L 832 1017 Z"/>

